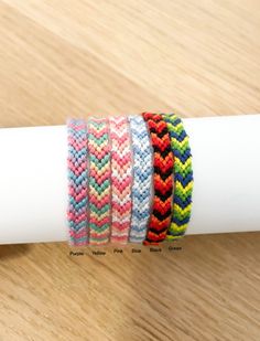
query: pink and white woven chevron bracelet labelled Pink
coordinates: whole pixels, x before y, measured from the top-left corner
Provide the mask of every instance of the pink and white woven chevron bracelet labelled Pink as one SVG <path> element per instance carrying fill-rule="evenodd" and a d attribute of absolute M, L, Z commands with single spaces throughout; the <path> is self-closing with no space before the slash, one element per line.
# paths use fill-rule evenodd
<path fill-rule="evenodd" d="M 111 243 L 128 242 L 131 223 L 132 152 L 127 117 L 111 117 Z"/>

